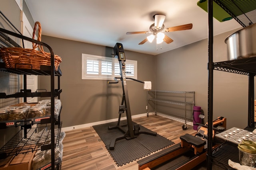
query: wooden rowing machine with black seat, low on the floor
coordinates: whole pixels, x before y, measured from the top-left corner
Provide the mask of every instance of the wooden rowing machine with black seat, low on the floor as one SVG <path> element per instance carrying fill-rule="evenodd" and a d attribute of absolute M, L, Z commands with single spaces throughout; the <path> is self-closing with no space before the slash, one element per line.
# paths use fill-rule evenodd
<path fill-rule="evenodd" d="M 214 120 L 214 125 L 222 127 L 221 129 L 215 128 L 216 131 L 226 129 L 226 118 L 218 117 L 218 119 Z M 179 144 L 168 147 L 167 149 L 160 150 L 159 152 L 152 154 L 142 160 L 138 160 L 138 169 L 157 170 L 159 167 L 162 167 L 165 164 L 169 164 L 171 166 L 165 166 L 165 168 L 162 169 L 188 170 L 198 166 L 206 160 L 207 154 L 207 150 L 204 149 L 206 141 L 200 139 L 205 139 L 205 137 L 208 136 L 208 131 L 206 129 L 207 125 L 204 126 L 205 127 L 201 127 L 198 130 L 196 136 L 192 136 L 189 134 L 183 135 L 180 137 L 181 141 Z M 214 137 L 214 132 L 212 137 Z M 214 145 L 212 149 L 215 149 L 216 147 L 218 147 L 217 144 Z M 189 156 L 188 158 L 182 160 L 181 157 L 185 154 Z"/>

